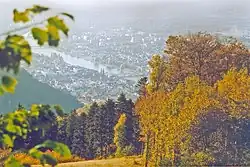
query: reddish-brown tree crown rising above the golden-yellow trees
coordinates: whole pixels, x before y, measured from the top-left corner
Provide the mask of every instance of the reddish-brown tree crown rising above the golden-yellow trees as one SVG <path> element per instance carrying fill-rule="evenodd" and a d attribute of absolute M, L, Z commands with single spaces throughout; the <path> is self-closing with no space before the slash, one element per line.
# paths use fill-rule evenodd
<path fill-rule="evenodd" d="M 249 69 L 249 51 L 237 40 L 221 41 L 207 33 L 170 36 L 165 54 L 149 61 L 148 89 L 173 90 L 186 77 L 196 75 L 212 86 L 230 68 Z"/>

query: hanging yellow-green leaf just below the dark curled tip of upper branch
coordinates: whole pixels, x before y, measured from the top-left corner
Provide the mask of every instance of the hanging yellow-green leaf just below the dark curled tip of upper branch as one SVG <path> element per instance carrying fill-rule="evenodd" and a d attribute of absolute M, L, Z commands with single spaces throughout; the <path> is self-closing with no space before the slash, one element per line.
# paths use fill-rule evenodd
<path fill-rule="evenodd" d="M 68 36 L 69 28 L 58 16 L 51 17 L 48 19 L 49 26 L 54 26 L 58 30 L 61 30 L 66 36 Z"/>

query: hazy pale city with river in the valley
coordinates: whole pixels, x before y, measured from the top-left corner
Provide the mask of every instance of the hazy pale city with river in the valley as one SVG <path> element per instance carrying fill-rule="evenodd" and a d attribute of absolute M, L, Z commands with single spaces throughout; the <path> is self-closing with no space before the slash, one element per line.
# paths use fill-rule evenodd
<path fill-rule="evenodd" d="M 34 49 L 37 53 L 27 70 L 83 103 L 115 98 L 122 92 L 135 99 L 135 84 L 147 76 L 147 61 L 162 50 L 163 41 L 156 34 L 131 28 L 74 34 L 51 55 L 46 54 L 46 48 Z"/>

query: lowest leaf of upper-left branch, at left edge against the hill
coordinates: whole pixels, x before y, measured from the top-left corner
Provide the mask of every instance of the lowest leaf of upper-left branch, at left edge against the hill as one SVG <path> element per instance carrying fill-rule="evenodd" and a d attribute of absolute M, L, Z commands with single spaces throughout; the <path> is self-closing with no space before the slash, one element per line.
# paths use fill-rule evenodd
<path fill-rule="evenodd" d="M 16 85 L 17 85 L 17 80 L 15 78 L 10 76 L 2 77 L 2 88 L 4 89 L 4 91 L 9 93 L 14 93 Z"/>

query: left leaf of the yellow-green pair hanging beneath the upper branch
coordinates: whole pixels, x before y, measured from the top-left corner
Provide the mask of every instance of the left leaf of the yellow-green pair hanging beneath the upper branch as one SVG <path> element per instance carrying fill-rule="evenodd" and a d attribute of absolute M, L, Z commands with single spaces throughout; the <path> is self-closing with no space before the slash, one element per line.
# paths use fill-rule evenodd
<path fill-rule="evenodd" d="M 37 43 L 42 46 L 49 40 L 48 32 L 40 28 L 32 28 L 33 38 L 37 40 Z"/>

